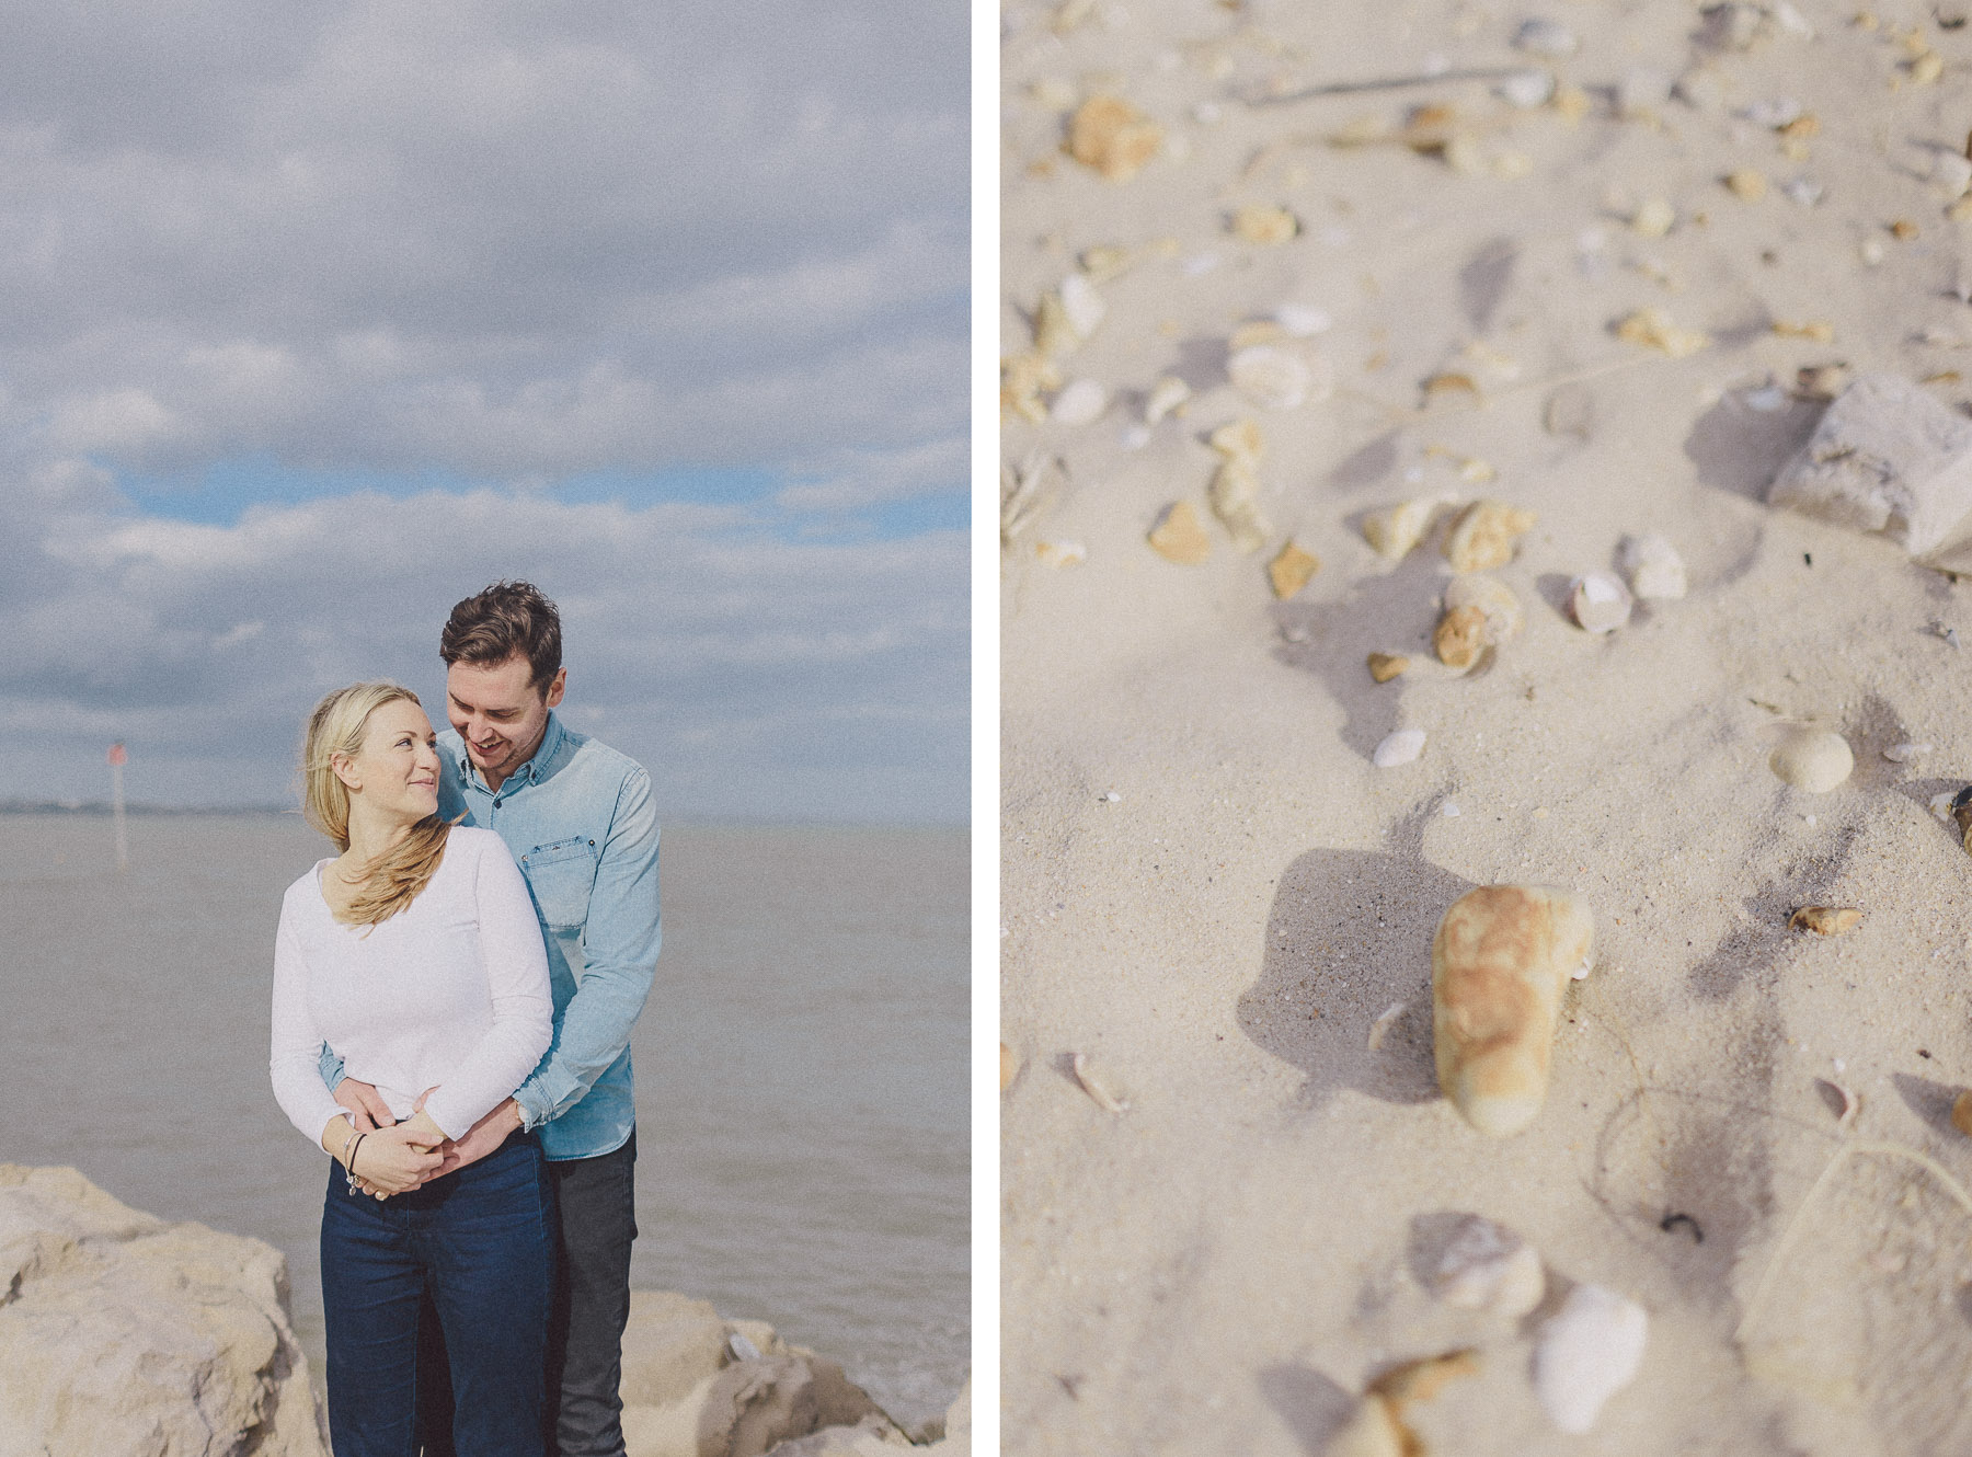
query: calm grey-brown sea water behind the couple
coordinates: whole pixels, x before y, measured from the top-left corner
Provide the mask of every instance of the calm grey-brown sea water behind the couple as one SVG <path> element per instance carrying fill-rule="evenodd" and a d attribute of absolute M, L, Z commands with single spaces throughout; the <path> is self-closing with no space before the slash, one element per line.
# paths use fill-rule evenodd
<path fill-rule="evenodd" d="M 300 818 L 0 814 L 0 1161 L 288 1256 L 321 1380 L 323 1155 L 266 1019 Z M 899 1422 L 970 1362 L 964 830 L 674 826 L 637 1025 L 631 1284 L 773 1321 Z"/>

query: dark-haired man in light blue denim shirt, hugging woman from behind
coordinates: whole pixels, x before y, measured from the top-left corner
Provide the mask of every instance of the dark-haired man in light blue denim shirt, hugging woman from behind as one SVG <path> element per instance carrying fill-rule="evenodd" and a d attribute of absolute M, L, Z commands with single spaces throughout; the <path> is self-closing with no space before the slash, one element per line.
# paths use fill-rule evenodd
<path fill-rule="evenodd" d="M 548 946 L 554 1041 L 513 1098 L 444 1145 L 432 1177 L 485 1157 L 515 1130 L 536 1130 L 562 1256 L 548 1329 L 550 1449 L 621 1457 L 617 1386 L 637 1236 L 629 1033 L 659 948 L 651 779 L 552 712 L 568 682 L 562 623 L 527 582 L 499 582 L 454 607 L 440 657 L 454 731 L 438 737 L 438 812 L 495 830 L 519 862 Z M 390 1122 L 377 1090 L 343 1078 L 327 1051 L 323 1080 L 353 1114 Z M 426 1408 L 428 1453 L 450 1451 L 444 1408 L 436 1422 Z"/>

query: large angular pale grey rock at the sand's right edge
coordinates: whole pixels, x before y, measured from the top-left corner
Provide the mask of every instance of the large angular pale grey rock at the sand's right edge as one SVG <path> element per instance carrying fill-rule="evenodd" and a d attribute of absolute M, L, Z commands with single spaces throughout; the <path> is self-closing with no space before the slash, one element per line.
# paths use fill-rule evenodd
<path fill-rule="evenodd" d="M 1972 513 L 1972 420 L 1899 375 L 1858 375 L 1767 503 L 1929 552 Z"/>

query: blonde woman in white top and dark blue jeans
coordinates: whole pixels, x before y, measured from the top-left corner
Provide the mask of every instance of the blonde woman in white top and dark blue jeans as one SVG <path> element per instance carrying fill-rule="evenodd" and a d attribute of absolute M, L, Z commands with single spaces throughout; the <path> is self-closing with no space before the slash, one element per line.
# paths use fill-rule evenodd
<path fill-rule="evenodd" d="M 458 1449 L 540 1457 L 554 1284 L 540 1147 L 515 1134 L 434 1177 L 438 1145 L 548 1049 L 548 960 L 527 883 L 497 834 L 438 818 L 432 724 L 408 688 L 359 682 L 323 698 L 302 777 L 308 822 L 341 856 L 282 899 L 270 1065 L 282 1112 L 335 1159 L 321 1211 L 331 1447 L 412 1451 L 430 1289 Z M 377 1086 L 392 1128 L 351 1126 L 321 1082 L 323 1043 Z"/>

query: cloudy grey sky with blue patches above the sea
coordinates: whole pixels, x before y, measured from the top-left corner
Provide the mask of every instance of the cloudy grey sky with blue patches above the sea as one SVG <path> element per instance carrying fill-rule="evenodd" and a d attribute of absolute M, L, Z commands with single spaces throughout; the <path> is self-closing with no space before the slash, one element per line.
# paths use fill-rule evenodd
<path fill-rule="evenodd" d="M 960 0 L 12 0 L 0 800 L 294 798 L 501 578 L 674 818 L 968 812 Z"/>

